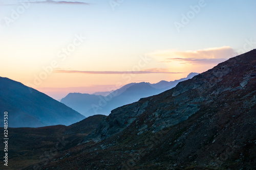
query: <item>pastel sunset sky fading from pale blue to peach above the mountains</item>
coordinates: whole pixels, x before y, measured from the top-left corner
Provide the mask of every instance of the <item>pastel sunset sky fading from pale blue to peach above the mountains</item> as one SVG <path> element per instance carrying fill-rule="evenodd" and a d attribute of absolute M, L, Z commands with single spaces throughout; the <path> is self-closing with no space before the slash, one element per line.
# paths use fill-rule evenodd
<path fill-rule="evenodd" d="M 256 48 L 254 0 L 0 0 L 0 76 L 54 99 L 204 72 Z"/>

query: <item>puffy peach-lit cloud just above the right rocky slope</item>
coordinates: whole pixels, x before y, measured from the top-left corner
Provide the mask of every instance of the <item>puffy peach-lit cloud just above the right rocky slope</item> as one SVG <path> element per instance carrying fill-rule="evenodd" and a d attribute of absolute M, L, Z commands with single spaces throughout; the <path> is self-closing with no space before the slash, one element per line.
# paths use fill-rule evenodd
<path fill-rule="evenodd" d="M 159 51 L 149 54 L 159 62 L 179 61 L 181 64 L 218 64 L 233 57 L 233 48 L 229 46 L 205 48 L 196 51 Z"/>

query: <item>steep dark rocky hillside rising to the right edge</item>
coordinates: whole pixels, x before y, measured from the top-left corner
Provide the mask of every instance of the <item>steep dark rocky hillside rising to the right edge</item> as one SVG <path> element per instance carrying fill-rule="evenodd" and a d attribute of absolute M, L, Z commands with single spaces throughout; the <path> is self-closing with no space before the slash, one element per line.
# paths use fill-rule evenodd
<path fill-rule="evenodd" d="M 119 107 L 43 169 L 255 169 L 256 50 Z M 28 168 L 33 167 L 33 165 Z"/>

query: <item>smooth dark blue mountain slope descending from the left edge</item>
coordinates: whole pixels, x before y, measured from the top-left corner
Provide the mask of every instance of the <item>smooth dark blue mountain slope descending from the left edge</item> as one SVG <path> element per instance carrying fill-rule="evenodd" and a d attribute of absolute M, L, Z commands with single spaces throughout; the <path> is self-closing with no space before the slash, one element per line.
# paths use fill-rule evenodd
<path fill-rule="evenodd" d="M 8 78 L 0 77 L 0 101 L 1 115 L 8 112 L 9 127 L 71 125 L 85 118 L 50 96 Z"/>

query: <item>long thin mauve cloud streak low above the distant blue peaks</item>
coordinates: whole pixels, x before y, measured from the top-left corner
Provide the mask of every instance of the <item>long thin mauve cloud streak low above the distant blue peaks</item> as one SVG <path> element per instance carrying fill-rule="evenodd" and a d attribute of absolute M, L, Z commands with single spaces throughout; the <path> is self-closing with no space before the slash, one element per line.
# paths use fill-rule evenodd
<path fill-rule="evenodd" d="M 56 73 L 80 73 L 80 74 L 94 74 L 94 75 L 122 75 L 122 74 L 182 74 L 183 72 L 170 72 L 164 68 L 150 68 L 140 71 L 80 71 L 80 70 L 66 70 L 55 69 Z"/>

